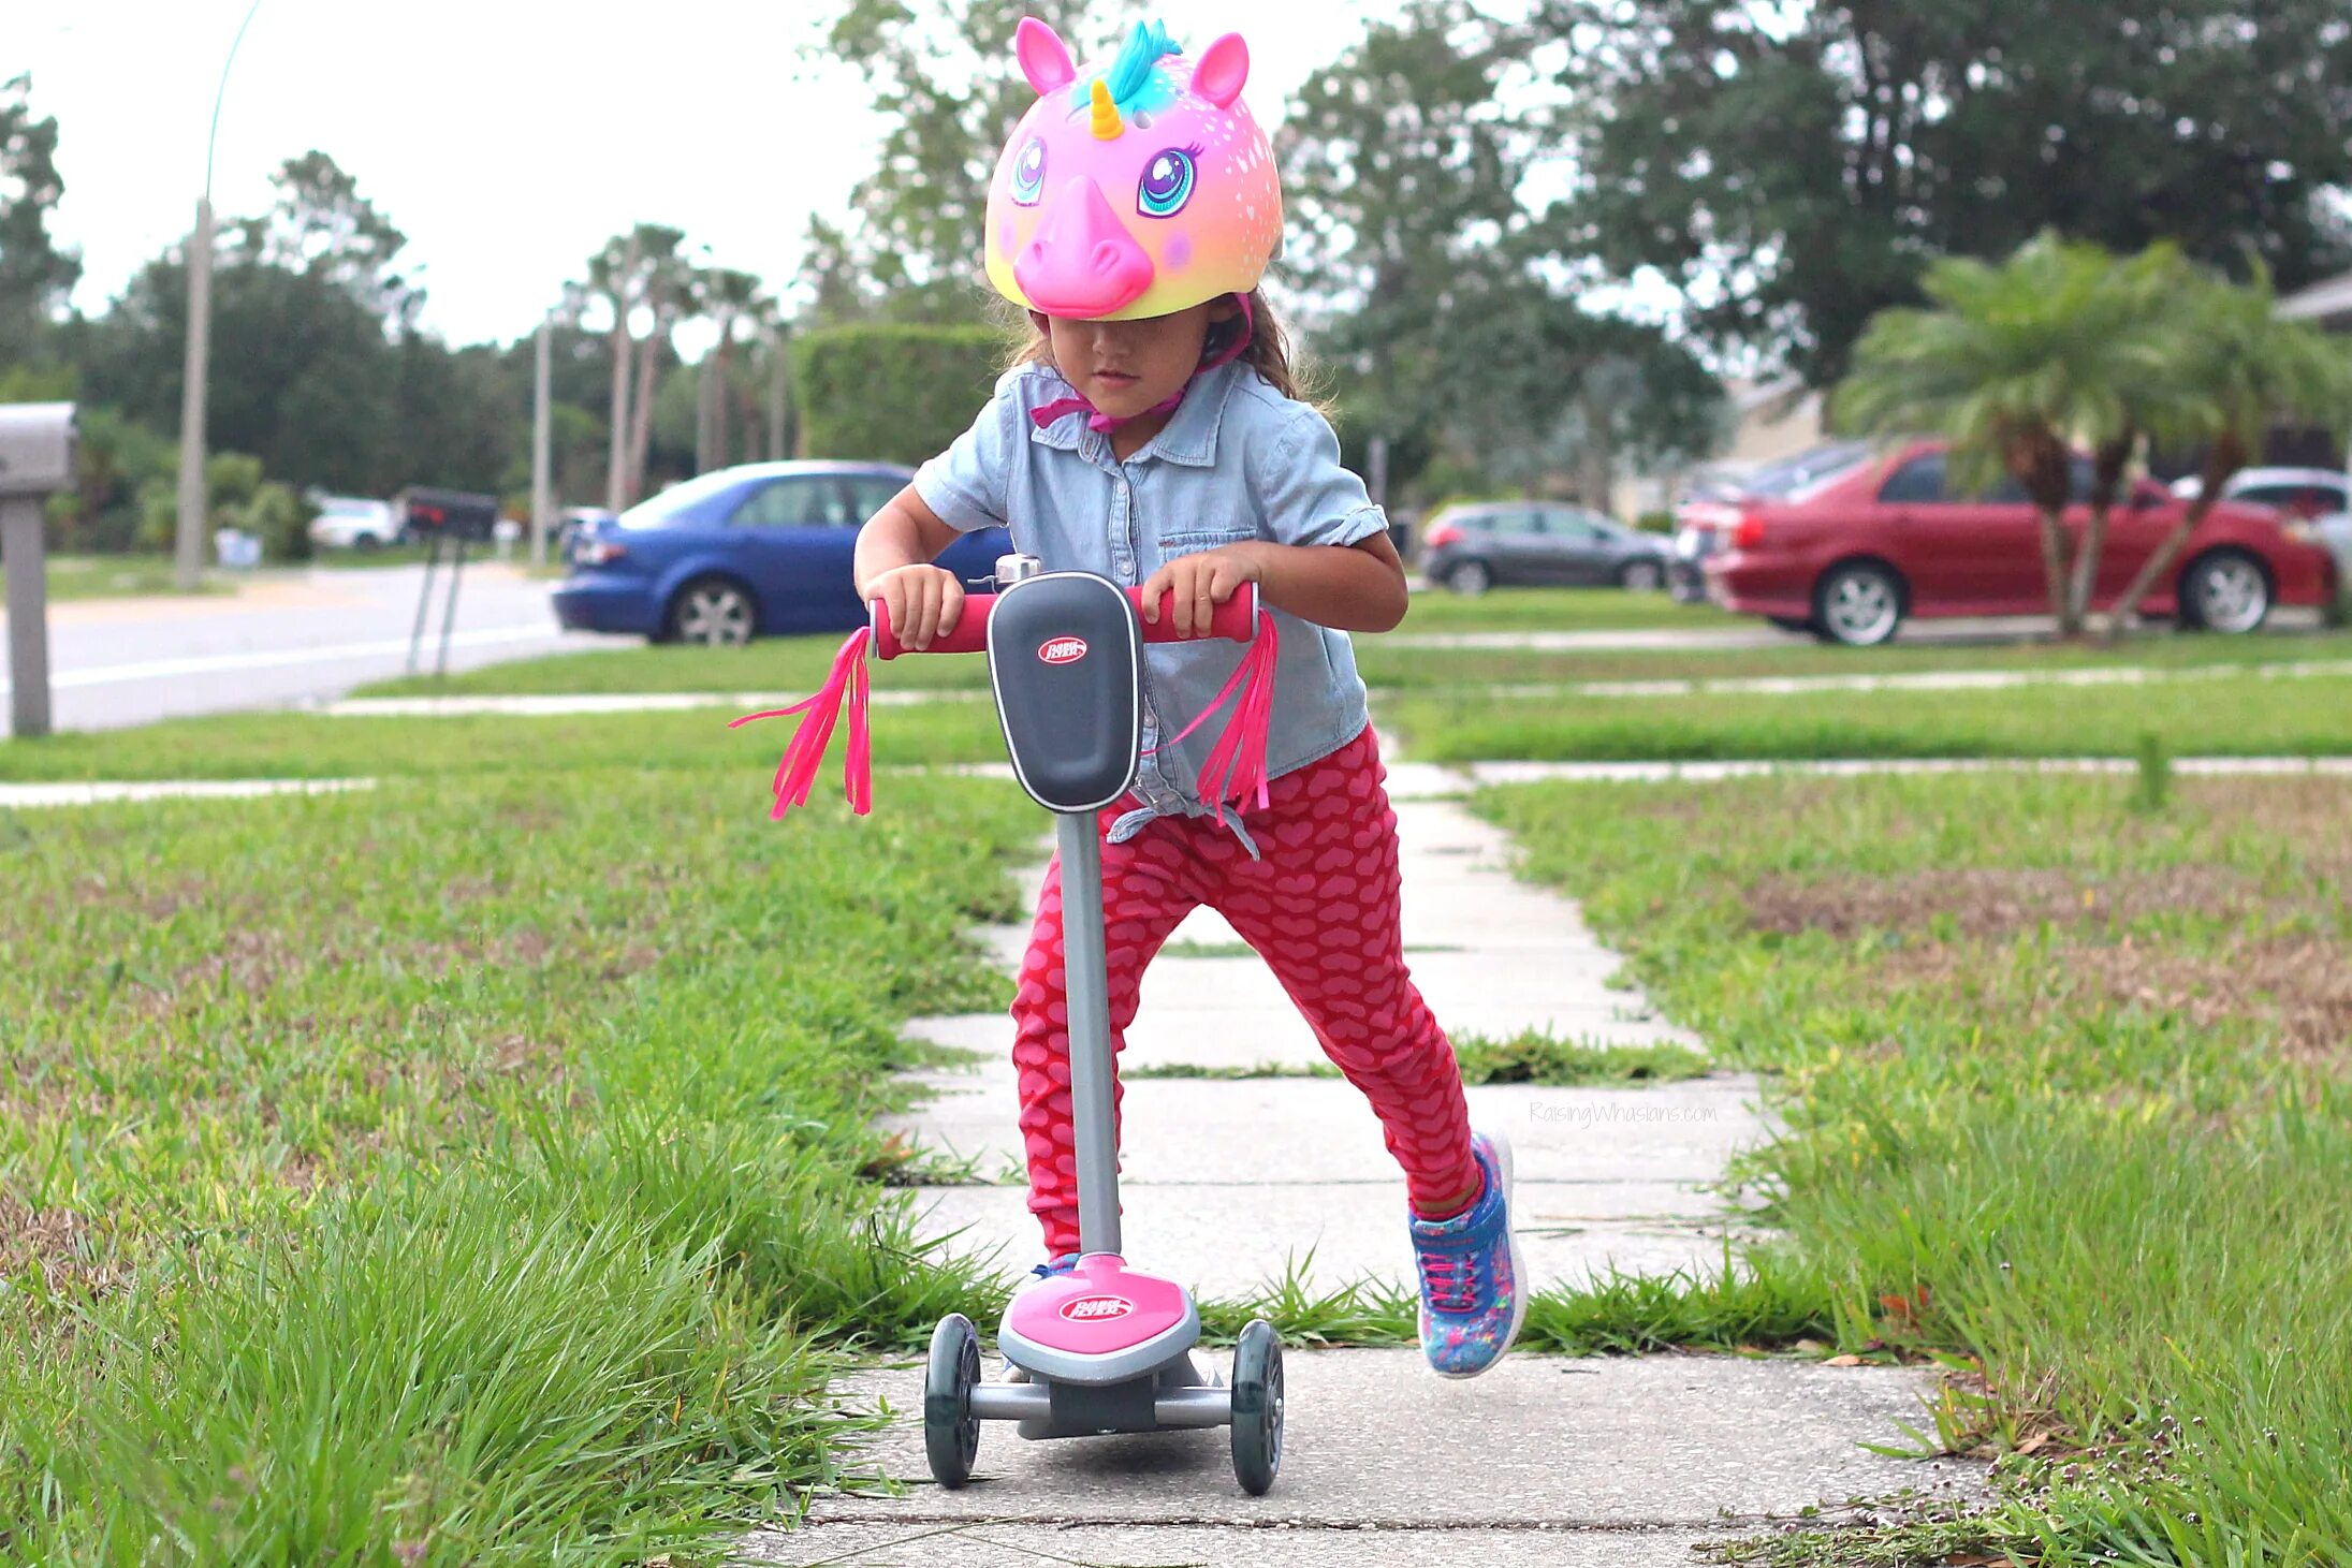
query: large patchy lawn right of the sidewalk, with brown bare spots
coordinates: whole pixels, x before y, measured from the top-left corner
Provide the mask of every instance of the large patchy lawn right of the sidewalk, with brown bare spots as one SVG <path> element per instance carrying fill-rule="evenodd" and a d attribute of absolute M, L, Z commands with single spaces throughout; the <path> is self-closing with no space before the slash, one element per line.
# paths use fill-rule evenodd
<path fill-rule="evenodd" d="M 1736 1168 L 1785 1232 L 1748 1258 L 1785 1286 L 1757 1338 L 1957 1359 L 1924 1446 L 2011 1450 L 1973 1540 L 2046 1563 L 2352 1556 L 2352 790 L 2178 780 L 2136 809 L 2129 780 L 1978 776 L 1477 804 L 1724 1065 L 1780 1074 L 1790 1131 Z"/>

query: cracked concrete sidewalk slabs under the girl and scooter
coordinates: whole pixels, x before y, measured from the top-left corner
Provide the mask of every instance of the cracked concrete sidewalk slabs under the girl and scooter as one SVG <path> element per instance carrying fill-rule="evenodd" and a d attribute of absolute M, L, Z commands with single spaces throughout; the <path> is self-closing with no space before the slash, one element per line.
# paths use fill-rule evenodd
<path fill-rule="evenodd" d="M 1435 769 L 1392 769 L 1414 973 L 1451 1030 L 1548 1027 L 1590 1039 L 1679 1039 L 1632 990 L 1576 907 L 1515 882 L 1508 846 Z M 1011 966 L 1021 929 L 985 933 Z M 1145 1067 L 1305 1065 L 1305 1025 L 1263 964 L 1223 957 L 1232 931 L 1188 919 L 1143 987 L 1124 1065 L 1122 1197 L 1141 1267 L 1207 1295 L 1254 1293 L 1298 1265 L 1315 1286 L 1411 1281 L 1404 1180 L 1371 1110 L 1338 1079 L 1150 1077 Z M 1002 1016 L 920 1020 L 978 1048 L 906 1128 L 964 1161 L 967 1180 L 917 1194 L 931 1234 L 1023 1272 L 1042 1251 L 1014 1135 Z M 1712 1272 L 1750 1232 L 1717 1187 L 1733 1150 L 1771 1135 L 1757 1084 L 1708 1074 L 1661 1088 L 1489 1086 L 1479 1126 L 1510 1138 L 1517 1232 L 1536 1288 L 1602 1269 Z M 985 1328 L 985 1326 L 983 1326 Z M 1223 1371 L 1225 1352 L 1202 1356 Z M 1933 1380 L 1910 1368 L 1795 1359 L 1515 1354 L 1446 1382 L 1414 1349 L 1291 1349 L 1284 1469 L 1265 1497 L 1232 1481 L 1225 1432 L 1028 1443 L 981 1434 L 976 1479 L 943 1493 L 922 1462 L 922 1368 L 875 1366 L 837 1396 L 896 1420 L 866 1469 L 903 1495 L 818 1497 L 797 1530 L 746 1542 L 769 1563 L 1152 1566 L 1254 1561 L 1686 1563 L 1691 1547 L 1764 1528 L 1766 1514 L 1952 1483 L 1978 1469 L 1872 1455 L 1900 1443 Z M 856 1474 L 858 1467 L 851 1465 Z"/>

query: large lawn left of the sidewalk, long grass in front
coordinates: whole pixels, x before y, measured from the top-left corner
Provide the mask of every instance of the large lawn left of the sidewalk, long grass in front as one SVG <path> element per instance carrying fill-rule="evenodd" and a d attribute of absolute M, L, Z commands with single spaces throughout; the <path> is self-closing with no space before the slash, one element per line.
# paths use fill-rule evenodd
<path fill-rule="evenodd" d="M 997 1291 L 861 1173 L 1033 813 L 739 783 L 0 813 L 0 1559 L 619 1566 L 830 1474 L 833 1361 Z"/>

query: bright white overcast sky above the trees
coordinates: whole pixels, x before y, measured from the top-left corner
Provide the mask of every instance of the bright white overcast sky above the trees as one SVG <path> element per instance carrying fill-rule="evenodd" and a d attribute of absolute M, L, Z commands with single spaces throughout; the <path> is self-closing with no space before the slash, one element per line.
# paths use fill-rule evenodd
<path fill-rule="evenodd" d="M 247 0 L 0 0 L 0 73 L 59 120 L 59 242 L 101 308 L 186 235 L 205 127 Z M 221 108 L 214 207 L 261 212 L 287 158 L 329 153 L 409 235 L 426 324 L 513 339 L 630 221 L 684 228 L 771 284 L 811 214 L 844 214 L 880 118 L 863 78 L 809 66 L 830 0 L 261 0 Z M 1289 94 L 1397 0 L 1174 0 L 1197 49 L 1251 47 L 1249 101 Z M 1112 40 L 1070 40 L 1080 56 Z"/>

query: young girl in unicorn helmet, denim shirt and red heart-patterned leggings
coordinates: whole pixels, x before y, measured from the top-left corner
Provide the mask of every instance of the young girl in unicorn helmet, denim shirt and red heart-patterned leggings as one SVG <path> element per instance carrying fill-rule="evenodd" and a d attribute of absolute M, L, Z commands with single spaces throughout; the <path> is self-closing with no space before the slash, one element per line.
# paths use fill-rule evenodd
<path fill-rule="evenodd" d="M 1040 99 L 988 193 L 988 277 L 1037 334 L 971 430 L 866 524 L 858 592 L 929 646 L 964 599 L 929 562 L 990 524 L 1049 569 L 1141 583 L 1145 618 L 1174 590 L 1181 637 L 1207 637 L 1214 607 L 1258 585 L 1279 632 L 1263 804 L 1228 804 L 1216 778 L 1204 790 L 1209 741 L 1176 733 L 1218 696 L 1235 646 L 1148 649 L 1145 755 L 1101 818 L 1112 1048 L 1169 931 L 1218 910 L 1371 1098 L 1404 1166 L 1421 1345 L 1439 1373 L 1477 1375 L 1526 1309 L 1510 1154 L 1470 1131 L 1454 1048 L 1404 969 L 1397 818 L 1348 644 L 1404 618 L 1404 567 L 1331 425 L 1298 400 L 1258 296 L 1282 193 L 1240 101 L 1249 52 L 1225 35 L 1195 61 L 1138 26 L 1108 71 L 1077 71 L 1035 19 L 1014 49 Z M 1040 1274 L 1077 1258 L 1061 954 L 1056 863 L 1011 1006 Z"/>

